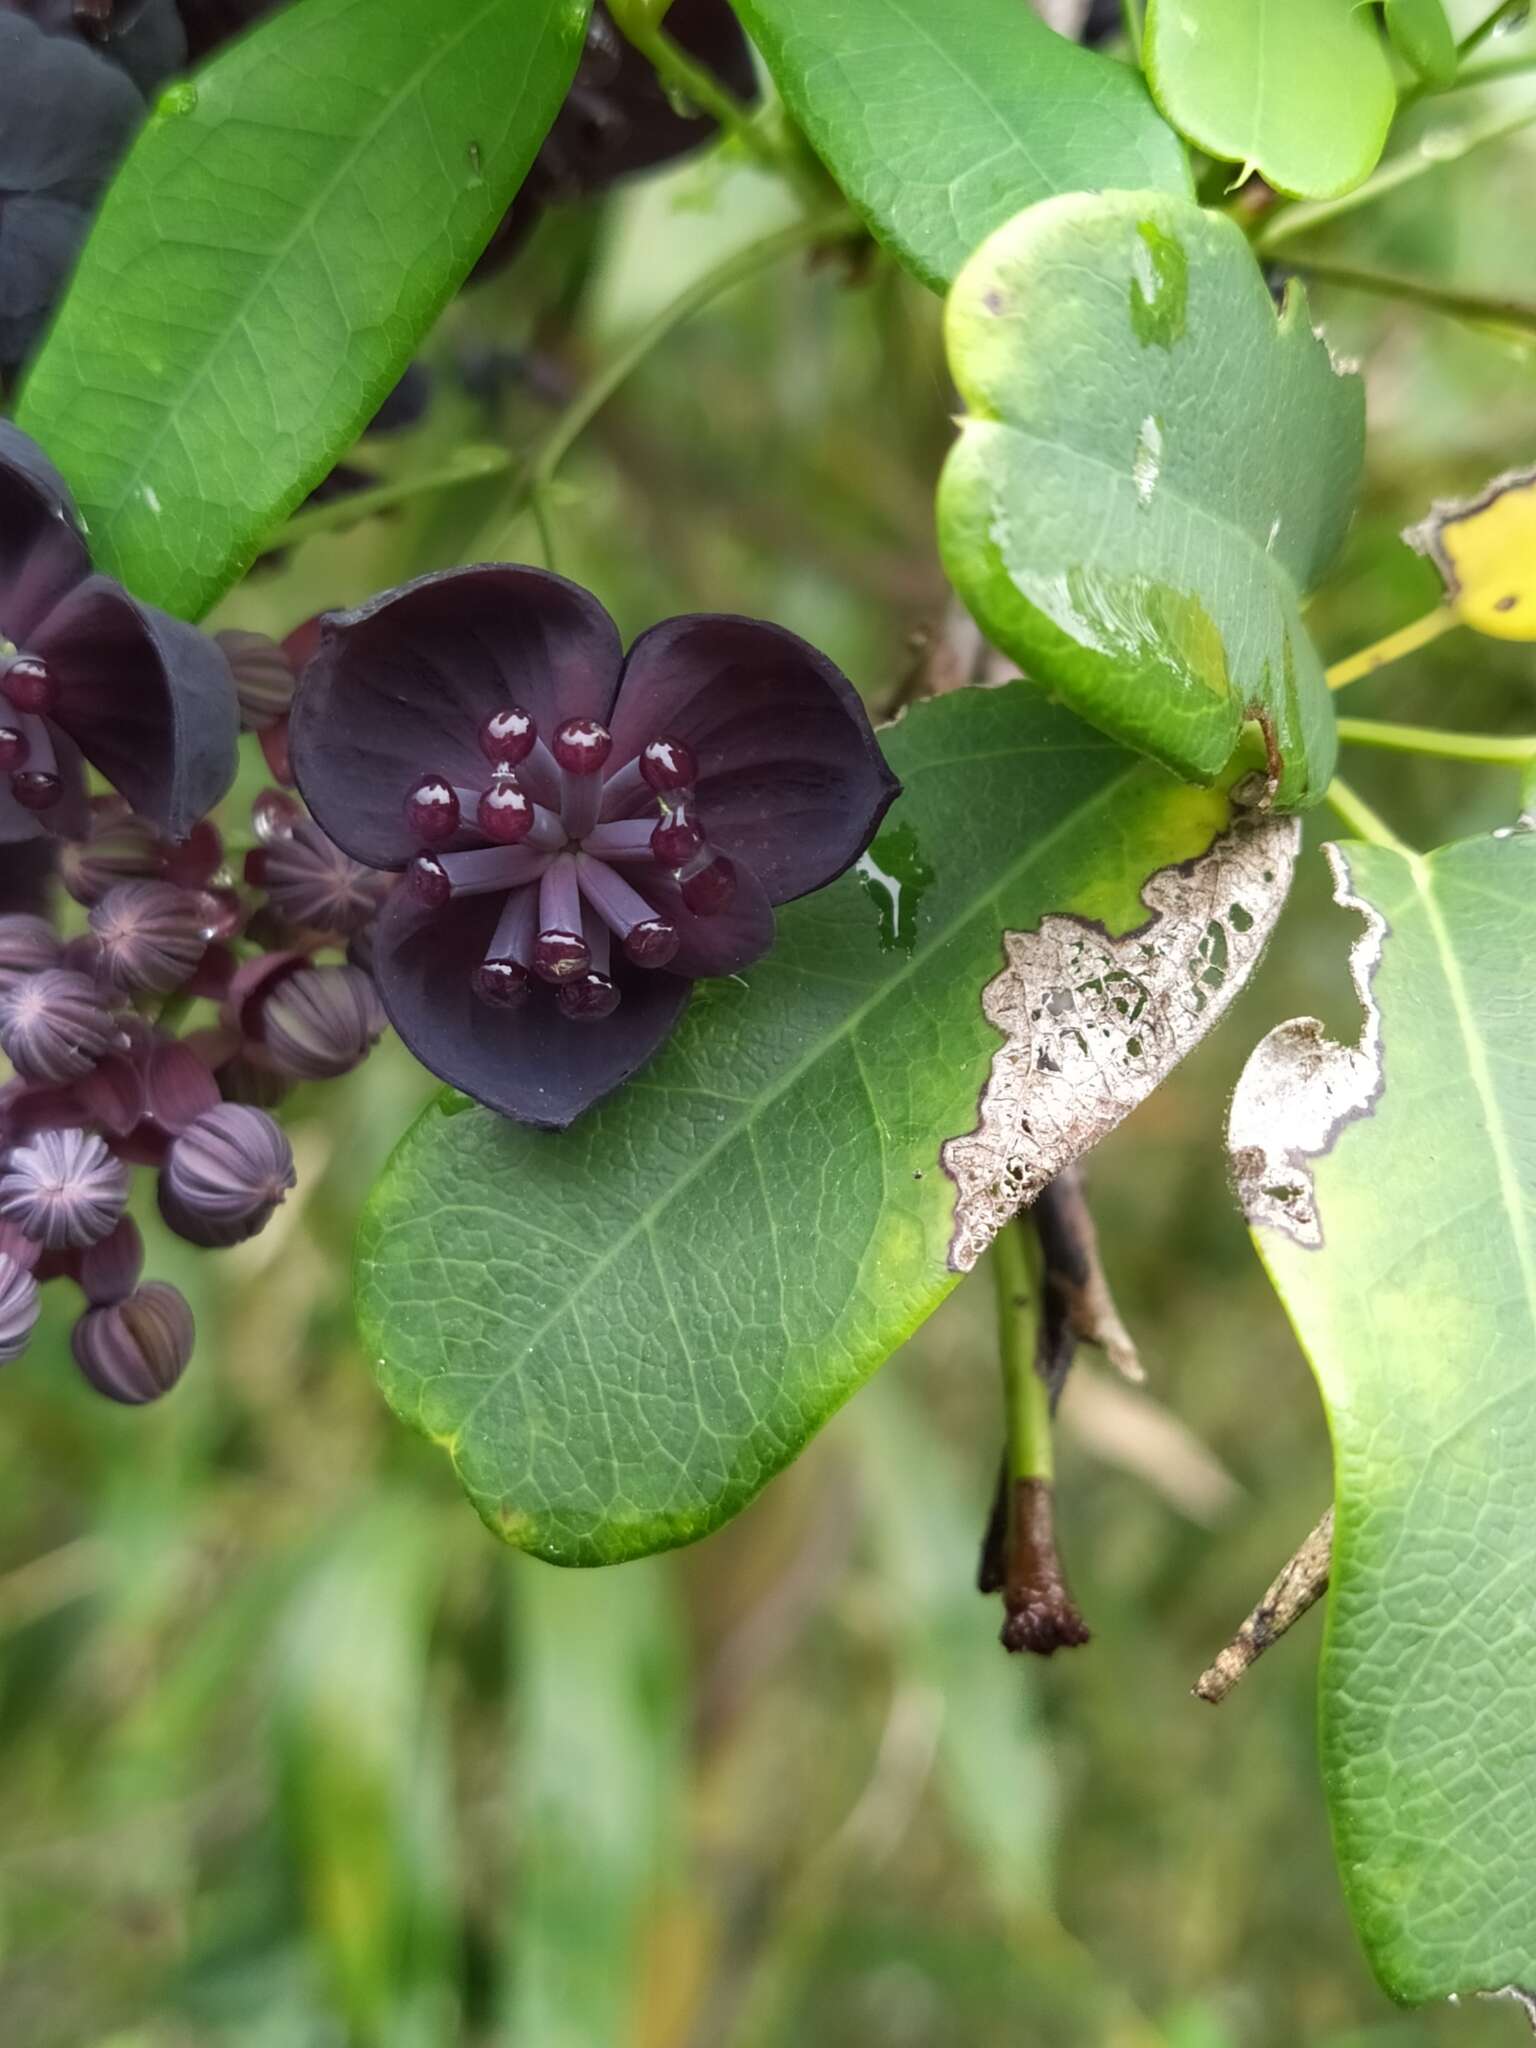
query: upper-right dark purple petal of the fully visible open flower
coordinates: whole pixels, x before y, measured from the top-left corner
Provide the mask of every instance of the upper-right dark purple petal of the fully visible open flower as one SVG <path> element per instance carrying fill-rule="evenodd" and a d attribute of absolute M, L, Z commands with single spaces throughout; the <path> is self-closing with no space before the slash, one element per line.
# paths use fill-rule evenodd
<path fill-rule="evenodd" d="M 848 678 L 795 633 L 698 614 L 643 633 L 625 664 L 612 760 L 659 735 L 698 756 L 709 840 L 772 903 L 836 881 L 901 784 Z"/>

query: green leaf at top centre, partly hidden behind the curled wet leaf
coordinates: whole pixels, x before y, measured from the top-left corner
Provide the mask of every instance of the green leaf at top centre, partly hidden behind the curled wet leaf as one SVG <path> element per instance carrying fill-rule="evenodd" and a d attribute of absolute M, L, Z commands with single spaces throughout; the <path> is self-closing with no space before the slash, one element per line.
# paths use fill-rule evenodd
<path fill-rule="evenodd" d="M 1139 72 L 1028 0 L 735 0 L 788 111 L 870 231 L 942 291 L 1036 199 L 1190 168 Z"/>

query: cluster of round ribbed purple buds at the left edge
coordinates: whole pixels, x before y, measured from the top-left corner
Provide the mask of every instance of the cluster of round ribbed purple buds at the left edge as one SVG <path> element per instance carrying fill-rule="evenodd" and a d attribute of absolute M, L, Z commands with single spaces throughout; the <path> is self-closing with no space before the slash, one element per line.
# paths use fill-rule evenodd
<path fill-rule="evenodd" d="M 86 1380 L 125 1403 L 174 1386 L 193 1313 L 141 1278 L 133 1169 L 156 1176 L 178 1237 L 244 1243 L 295 1186 L 270 1110 L 295 1081 L 348 1073 L 383 1030 L 360 963 L 389 879 L 285 791 L 256 801 L 252 827 L 236 877 L 207 819 L 168 842 L 123 799 L 92 799 L 84 836 L 55 842 L 84 930 L 0 915 L 14 1069 L 0 1087 L 0 1362 L 27 1348 L 39 1288 L 68 1278 L 84 1294 L 72 1348 Z M 213 1020 L 176 1036 L 199 999 Z"/>

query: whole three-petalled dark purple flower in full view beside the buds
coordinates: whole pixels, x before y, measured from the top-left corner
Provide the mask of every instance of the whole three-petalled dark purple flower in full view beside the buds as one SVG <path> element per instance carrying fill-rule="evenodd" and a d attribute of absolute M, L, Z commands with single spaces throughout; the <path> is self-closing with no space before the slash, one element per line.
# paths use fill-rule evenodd
<path fill-rule="evenodd" d="M 424 575 L 324 623 L 293 711 L 326 834 L 410 866 L 373 969 L 424 1065 L 561 1128 L 768 950 L 774 903 L 868 846 L 897 795 L 852 684 L 752 618 L 623 653 L 586 590 Z"/>

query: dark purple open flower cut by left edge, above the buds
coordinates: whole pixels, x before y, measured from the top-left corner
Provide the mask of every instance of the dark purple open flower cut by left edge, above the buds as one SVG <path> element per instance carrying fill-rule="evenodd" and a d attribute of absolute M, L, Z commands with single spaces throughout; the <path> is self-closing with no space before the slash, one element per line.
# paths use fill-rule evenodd
<path fill-rule="evenodd" d="M 90 573 L 63 479 L 0 420 L 0 844 L 88 829 L 82 756 L 180 840 L 229 786 L 236 733 L 213 641 Z"/>

